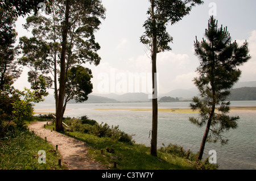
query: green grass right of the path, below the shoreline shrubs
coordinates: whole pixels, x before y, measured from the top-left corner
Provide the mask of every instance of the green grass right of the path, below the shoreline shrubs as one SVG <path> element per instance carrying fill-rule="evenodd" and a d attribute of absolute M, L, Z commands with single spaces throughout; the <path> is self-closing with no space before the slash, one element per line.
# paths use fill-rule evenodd
<path fill-rule="evenodd" d="M 55 127 L 47 125 L 47 129 Z M 132 142 L 117 141 L 113 137 L 99 137 L 93 133 L 81 131 L 64 131 L 70 137 L 84 141 L 88 145 L 88 156 L 107 166 L 118 170 L 196 170 L 217 169 L 205 162 L 195 161 L 196 155 L 177 145 L 168 145 L 158 150 L 158 157 L 150 155 L 150 147 Z M 109 153 L 106 148 L 113 149 Z M 114 162 L 117 168 L 114 168 Z"/>

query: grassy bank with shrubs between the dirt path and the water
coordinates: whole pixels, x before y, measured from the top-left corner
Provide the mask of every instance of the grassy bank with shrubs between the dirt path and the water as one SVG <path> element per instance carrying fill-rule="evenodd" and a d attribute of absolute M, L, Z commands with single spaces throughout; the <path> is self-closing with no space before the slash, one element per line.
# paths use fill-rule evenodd
<path fill-rule="evenodd" d="M 66 119 L 64 122 L 69 128 L 63 133 L 84 141 L 89 147 L 89 157 L 100 161 L 109 169 L 217 169 L 208 161 L 197 162 L 196 155 L 189 150 L 185 151 L 181 146 L 172 144 L 163 146 L 158 150 L 158 157 L 153 157 L 150 155 L 150 147 L 135 144 L 130 135 L 115 129 L 116 127 L 98 124 L 88 119 Z M 52 129 L 53 126 L 48 125 L 47 128 Z M 116 168 L 114 163 L 117 164 Z"/>

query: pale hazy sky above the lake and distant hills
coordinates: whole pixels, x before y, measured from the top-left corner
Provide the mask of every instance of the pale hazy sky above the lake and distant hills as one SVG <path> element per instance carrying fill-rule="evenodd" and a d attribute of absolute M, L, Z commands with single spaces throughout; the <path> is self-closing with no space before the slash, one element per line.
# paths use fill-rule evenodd
<path fill-rule="evenodd" d="M 107 81 L 109 87 L 104 87 L 105 93 L 116 92 L 120 85 L 121 93 L 129 92 L 129 86 L 132 86 L 129 85 L 129 75 L 146 75 L 149 84 L 151 82 L 150 55 L 147 48 L 139 41 L 139 37 L 144 32 L 142 25 L 147 19 L 146 11 L 150 6 L 149 2 L 147 0 L 102 0 L 102 4 L 106 8 L 106 19 L 102 21 L 100 30 L 95 34 L 96 40 L 101 45 L 98 54 L 102 60 L 97 67 L 86 65 L 93 72 L 93 92 L 101 92 L 102 85 L 104 87 Z M 209 12 L 216 15 L 214 18 L 218 20 L 219 26 L 222 24 L 228 27 L 232 41 L 237 40 L 238 43 L 243 43 L 247 40 L 249 42 L 252 58 L 240 67 L 242 70 L 240 81 L 256 81 L 255 8 L 255 0 L 205 0 L 204 5 L 194 7 L 191 13 L 180 22 L 174 26 L 168 26 L 168 32 L 174 41 L 170 44 L 171 51 L 159 53 L 157 57 L 159 92 L 166 93 L 174 89 L 195 87 L 192 79 L 196 77 L 195 70 L 199 66 L 199 60 L 193 52 L 193 41 L 195 36 L 199 40 L 203 38 L 205 28 L 208 27 Z M 24 19 L 19 18 L 16 23 L 18 36 L 29 34 L 26 30 L 22 30 L 22 23 Z M 25 69 L 22 77 L 15 82 L 14 86 L 17 89 L 29 87 L 26 74 Z M 111 89 L 113 87 L 115 90 Z M 147 87 L 150 86 L 147 85 Z M 147 89 L 146 92 L 149 93 L 151 90 Z"/>

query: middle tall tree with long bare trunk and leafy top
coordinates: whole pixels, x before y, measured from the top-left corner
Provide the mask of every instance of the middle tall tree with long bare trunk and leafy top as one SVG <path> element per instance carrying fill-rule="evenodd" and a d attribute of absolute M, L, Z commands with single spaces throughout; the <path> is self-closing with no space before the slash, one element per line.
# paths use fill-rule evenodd
<path fill-rule="evenodd" d="M 150 0 L 151 6 L 147 11 L 150 15 L 143 24 L 144 35 L 141 42 L 150 47 L 152 62 L 152 138 L 151 155 L 157 155 L 157 132 L 158 132 L 158 90 L 156 82 L 156 54 L 171 50 L 168 45 L 173 38 L 166 31 L 168 23 L 175 24 L 189 14 L 193 6 L 201 5 L 201 0 Z"/>

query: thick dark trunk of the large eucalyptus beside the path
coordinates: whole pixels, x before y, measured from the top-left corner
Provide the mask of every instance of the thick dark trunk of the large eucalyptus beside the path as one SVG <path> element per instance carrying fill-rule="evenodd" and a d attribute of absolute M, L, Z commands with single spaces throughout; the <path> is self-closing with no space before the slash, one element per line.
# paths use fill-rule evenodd
<path fill-rule="evenodd" d="M 66 1 L 65 8 L 65 22 L 63 25 L 63 42 L 61 48 L 61 57 L 60 57 L 60 81 L 59 81 L 59 98 L 57 102 L 57 111 L 56 111 L 56 131 L 63 130 L 62 119 L 63 119 L 63 103 L 65 95 L 65 56 L 67 50 L 67 35 L 68 35 L 68 26 L 69 26 L 69 0 Z"/>

